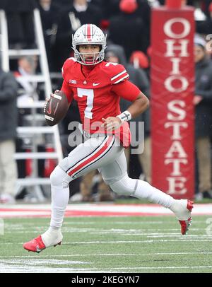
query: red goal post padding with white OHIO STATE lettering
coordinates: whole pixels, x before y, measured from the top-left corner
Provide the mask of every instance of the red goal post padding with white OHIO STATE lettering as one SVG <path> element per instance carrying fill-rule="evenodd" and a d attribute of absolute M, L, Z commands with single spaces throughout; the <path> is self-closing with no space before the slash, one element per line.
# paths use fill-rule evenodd
<path fill-rule="evenodd" d="M 151 47 L 152 184 L 176 199 L 192 199 L 194 9 L 153 8 Z"/>

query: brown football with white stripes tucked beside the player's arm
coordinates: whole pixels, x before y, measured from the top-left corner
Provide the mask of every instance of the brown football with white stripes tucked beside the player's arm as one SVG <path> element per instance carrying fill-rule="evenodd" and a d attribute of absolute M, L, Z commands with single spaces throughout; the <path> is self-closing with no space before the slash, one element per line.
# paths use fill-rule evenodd
<path fill-rule="evenodd" d="M 51 127 L 58 124 L 65 117 L 68 110 L 69 102 L 66 95 L 57 90 L 45 102 L 44 113 L 47 124 Z"/>

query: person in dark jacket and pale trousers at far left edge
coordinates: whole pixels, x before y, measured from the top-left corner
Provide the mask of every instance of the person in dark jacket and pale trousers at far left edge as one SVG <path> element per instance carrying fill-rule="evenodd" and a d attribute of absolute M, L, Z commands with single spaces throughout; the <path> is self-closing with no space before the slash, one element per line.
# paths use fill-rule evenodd
<path fill-rule="evenodd" d="M 0 203 L 15 202 L 17 83 L 12 74 L 0 69 Z"/>

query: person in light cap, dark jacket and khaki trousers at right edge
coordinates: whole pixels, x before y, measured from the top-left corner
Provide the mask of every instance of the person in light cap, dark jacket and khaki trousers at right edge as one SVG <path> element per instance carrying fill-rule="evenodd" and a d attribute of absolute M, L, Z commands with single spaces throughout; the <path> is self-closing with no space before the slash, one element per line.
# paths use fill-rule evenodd
<path fill-rule="evenodd" d="M 199 192 L 197 198 L 211 197 L 211 138 L 212 138 L 212 63 L 208 59 L 206 42 L 194 39 L 195 127 L 196 153 L 199 166 Z"/>

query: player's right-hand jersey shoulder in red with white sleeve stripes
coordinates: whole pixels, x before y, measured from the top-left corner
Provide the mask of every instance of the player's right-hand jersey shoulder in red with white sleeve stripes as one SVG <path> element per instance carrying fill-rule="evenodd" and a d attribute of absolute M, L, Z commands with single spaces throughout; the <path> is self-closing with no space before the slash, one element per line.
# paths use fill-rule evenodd
<path fill-rule="evenodd" d="M 110 76 L 110 83 L 116 84 L 129 78 L 129 74 L 123 65 L 107 61 L 105 63 L 105 71 Z"/>

